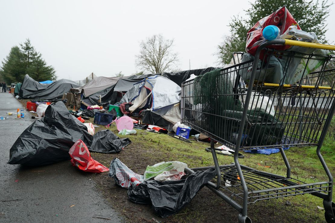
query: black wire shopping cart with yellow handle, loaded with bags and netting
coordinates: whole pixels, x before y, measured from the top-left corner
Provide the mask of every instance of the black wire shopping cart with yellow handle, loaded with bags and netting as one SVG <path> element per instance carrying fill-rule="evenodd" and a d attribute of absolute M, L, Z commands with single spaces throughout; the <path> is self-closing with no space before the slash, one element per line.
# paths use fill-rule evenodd
<path fill-rule="evenodd" d="M 279 51 L 275 44 L 295 46 L 300 52 L 318 50 Z M 242 59 L 182 84 L 182 123 L 211 138 L 217 177 L 207 187 L 240 212 L 239 222 L 251 222 L 248 204 L 303 194 L 322 198 L 326 221 L 335 221 L 333 177 L 320 153 L 335 110 L 335 57 L 325 50 L 332 52 L 335 46 L 268 41 L 258 47 L 254 59 Z M 267 83 L 274 75 L 281 77 L 280 82 Z M 235 150 L 235 163 L 219 165 L 214 140 Z M 291 177 L 284 149 L 310 146 L 317 146 L 328 181 L 305 183 Z M 271 148 L 280 150 L 286 176 L 240 165 L 239 151 Z M 208 168 L 212 167 L 186 171 Z"/>

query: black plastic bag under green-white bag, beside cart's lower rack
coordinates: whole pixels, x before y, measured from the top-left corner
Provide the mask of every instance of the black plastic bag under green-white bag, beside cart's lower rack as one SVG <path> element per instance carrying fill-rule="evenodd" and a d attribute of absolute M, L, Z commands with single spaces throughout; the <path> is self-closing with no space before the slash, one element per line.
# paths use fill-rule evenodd
<path fill-rule="evenodd" d="M 138 186 L 130 185 L 128 198 L 136 204 L 152 204 L 153 210 L 162 218 L 179 212 L 208 181 L 216 176 L 210 168 L 203 172 L 190 174 L 186 180 L 143 181 Z"/>

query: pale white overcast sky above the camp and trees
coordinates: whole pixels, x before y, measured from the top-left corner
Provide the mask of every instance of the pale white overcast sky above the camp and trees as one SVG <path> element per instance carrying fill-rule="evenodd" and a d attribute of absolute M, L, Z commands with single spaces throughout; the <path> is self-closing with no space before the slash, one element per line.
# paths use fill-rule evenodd
<path fill-rule="evenodd" d="M 29 38 L 58 78 L 93 72 L 131 75 L 139 42 L 153 34 L 174 38 L 182 70 L 217 66 L 213 55 L 233 15 L 249 1 L 5 1 L 0 0 L 0 59 Z M 335 21 L 331 7 L 328 28 Z M 331 22 L 332 21 L 332 22 Z M 335 42 L 335 29 L 327 38 Z"/>

